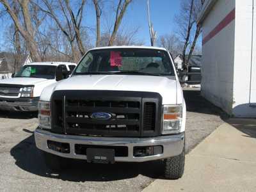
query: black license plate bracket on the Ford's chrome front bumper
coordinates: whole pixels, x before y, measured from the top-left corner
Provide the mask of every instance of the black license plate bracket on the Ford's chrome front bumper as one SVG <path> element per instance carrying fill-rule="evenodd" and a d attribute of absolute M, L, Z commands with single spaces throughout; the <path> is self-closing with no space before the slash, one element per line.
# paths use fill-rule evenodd
<path fill-rule="evenodd" d="M 88 163 L 115 163 L 113 148 L 86 148 Z"/>

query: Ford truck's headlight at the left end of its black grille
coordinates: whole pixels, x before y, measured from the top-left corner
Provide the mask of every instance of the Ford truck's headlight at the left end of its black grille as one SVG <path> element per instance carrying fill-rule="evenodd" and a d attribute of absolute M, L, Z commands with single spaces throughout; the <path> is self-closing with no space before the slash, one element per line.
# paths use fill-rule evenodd
<path fill-rule="evenodd" d="M 51 102 L 40 100 L 38 103 L 39 127 L 51 129 Z"/>

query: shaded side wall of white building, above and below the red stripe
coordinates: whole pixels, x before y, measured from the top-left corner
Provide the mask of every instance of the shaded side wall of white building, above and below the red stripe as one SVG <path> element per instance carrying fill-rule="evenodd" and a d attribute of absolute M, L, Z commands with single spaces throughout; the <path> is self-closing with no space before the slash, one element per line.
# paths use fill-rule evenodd
<path fill-rule="evenodd" d="M 204 20 L 203 38 L 234 10 L 235 0 L 219 0 Z M 202 49 L 202 95 L 216 106 L 232 113 L 234 72 L 233 20 L 219 33 L 205 42 Z"/>

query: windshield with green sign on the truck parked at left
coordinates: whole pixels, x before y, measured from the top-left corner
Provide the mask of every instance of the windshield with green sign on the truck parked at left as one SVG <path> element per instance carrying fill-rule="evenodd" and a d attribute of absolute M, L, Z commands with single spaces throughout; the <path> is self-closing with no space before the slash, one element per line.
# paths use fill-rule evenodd
<path fill-rule="evenodd" d="M 24 65 L 14 77 L 35 77 L 55 79 L 56 66 L 53 65 Z"/>

